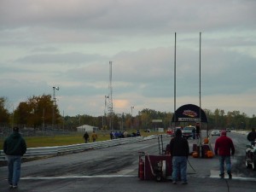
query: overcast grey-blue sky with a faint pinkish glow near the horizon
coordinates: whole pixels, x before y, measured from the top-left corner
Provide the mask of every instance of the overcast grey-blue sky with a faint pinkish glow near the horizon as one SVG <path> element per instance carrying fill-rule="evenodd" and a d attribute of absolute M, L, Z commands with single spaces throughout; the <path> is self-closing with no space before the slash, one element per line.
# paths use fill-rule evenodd
<path fill-rule="evenodd" d="M 177 108 L 256 114 L 255 0 L 0 0 L 0 96 L 53 95 L 65 115 Z M 11 107 L 12 108 L 12 107 Z"/>

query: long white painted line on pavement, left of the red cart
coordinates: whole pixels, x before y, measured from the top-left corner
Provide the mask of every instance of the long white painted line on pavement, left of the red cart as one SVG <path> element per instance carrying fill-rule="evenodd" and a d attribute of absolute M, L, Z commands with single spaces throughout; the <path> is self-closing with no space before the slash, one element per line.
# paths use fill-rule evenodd
<path fill-rule="evenodd" d="M 96 175 L 96 176 L 61 176 L 61 177 L 21 177 L 22 180 L 47 180 L 67 178 L 111 178 L 111 177 L 137 177 L 137 175 Z"/>

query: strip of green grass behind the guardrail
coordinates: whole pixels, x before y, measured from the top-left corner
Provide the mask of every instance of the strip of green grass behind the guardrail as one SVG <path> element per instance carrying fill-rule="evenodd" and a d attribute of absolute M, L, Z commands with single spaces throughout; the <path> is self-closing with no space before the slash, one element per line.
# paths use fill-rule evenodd
<path fill-rule="evenodd" d="M 132 132 L 132 131 L 129 131 Z M 154 134 L 159 134 L 158 132 L 143 132 L 141 131 L 143 137 L 147 137 Z M 52 146 L 63 146 L 63 145 L 72 145 L 72 144 L 79 144 L 84 143 L 83 132 L 76 132 L 71 135 L 61 135 L 61 136 L 41 136 L 41 137 L 24 137 L 26 140 L 27 148 L 38 148 L 38 147 L 52 147 Z M 106 141 L 109 140 L 109 132 L 97 132 L 99 141 Z M 0 138 L 0 149 L 3 149 L 3 141 L 4 138 Z M 90 138 L 91 142 L 91 138 Z"/>

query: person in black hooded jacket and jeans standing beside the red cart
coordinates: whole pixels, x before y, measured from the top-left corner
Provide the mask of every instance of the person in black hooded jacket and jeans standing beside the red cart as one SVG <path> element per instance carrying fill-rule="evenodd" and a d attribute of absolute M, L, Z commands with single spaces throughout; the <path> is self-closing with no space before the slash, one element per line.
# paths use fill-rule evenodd
<path fill-rule="evenodd" d="M 182 131 L 177 129 L 176 136 L 170 142 L 172 155 L 172 183 L 176 184 L 178 176 L 182 183 L 187 184 L 187 159 L 189 156 L 188 140 L 182 137 Z"/>

